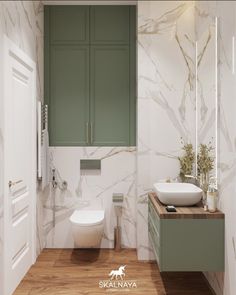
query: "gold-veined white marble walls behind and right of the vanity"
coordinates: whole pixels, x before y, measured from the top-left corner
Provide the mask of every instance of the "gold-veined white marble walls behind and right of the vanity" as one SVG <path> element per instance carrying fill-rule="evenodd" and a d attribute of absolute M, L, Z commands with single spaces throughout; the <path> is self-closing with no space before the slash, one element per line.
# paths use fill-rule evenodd
<path fill-rule="evenodd" d="M 197 127 L 198 143 L 211 140 L 217 146 L 219 207 L 226 214 L 225 273 L 206 273 L 217 295 L 236 293 L 236 76 L 232 73 L 235 6 L 234 1 L 138 3 L 137 233 L 147 233 L 146 202 L 152 183 L 178 174 L 179 138 L 182 136 L 194 144 Z M 217 85 L 216 16 L 219 17 Z M 195 41 L 200 61 L 197 89 L 194 88 Z M 152 257 L 147 234 L 137 235 L 137 247 L 140 259 Z"/>

